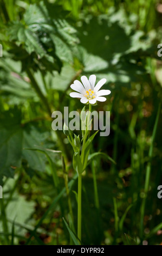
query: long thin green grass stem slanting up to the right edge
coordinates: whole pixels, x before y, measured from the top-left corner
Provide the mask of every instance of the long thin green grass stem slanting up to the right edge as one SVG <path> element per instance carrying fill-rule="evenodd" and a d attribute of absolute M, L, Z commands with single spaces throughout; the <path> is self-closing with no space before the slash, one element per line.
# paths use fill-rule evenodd
<path fill-rule="evenodd" d="M 144 198 L 142 199 L 141 215 L 140 215 L 140 237 L 141 238 L 144 233 L 144 215 L 145 215 L 146 198 L 147 198 L 149 182 L 150 182 L 150 174 L 151 174 L 151 158 L 152 158 L 152 153 L 153 153 L 153 142 L 154 142 L 155 134 L 157 131 L 157 126 L 158 126 L 158 121 L 159 121 L 159 116 L 160 116 L 160 109 L 161 109 L 161 103 L 159 103 L 157 117 L 155 119 L 155 124 L 153 127 L 151 145 L 150 145 L 150 149 L 149 149 L 149 153 L 148 153 L 149 162 L 147 163 L 147 167 L 146 167 L 146 178 L 145 178 L 145 189 L 144 189 L 145 195 L 144 195 Z"/>

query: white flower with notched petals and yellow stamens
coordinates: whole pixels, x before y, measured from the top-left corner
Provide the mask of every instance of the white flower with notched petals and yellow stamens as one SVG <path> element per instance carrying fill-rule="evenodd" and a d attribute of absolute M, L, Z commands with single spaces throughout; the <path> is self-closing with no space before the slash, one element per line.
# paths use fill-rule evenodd
<path fill-rule="evenodd" d="M 102 97 L 103 95 L 108 95 L 111 93 L 110 90 L 100 90 L 103 84 L 106 83 L 106 79 L 102 78 L 95 86 L 96 76 L 89 76 L 89 80 L 86 76 L 81 77 L 81 81 L 75 80 L 73 84 L 71 84 L 71 88 L 75 90 L 77 93 L 70 93 L 71 97 L 81 98 L 82 103 L 87 103 L 89 101 L 90 104 L 95 104 L 96 101 L 106 101 L 106 97 Z"/>

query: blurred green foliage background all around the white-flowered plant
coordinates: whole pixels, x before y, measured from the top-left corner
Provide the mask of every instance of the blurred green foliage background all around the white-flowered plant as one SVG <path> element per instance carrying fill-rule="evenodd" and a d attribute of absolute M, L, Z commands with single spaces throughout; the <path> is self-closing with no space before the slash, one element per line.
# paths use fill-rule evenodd
<path fill-rule="evenodd" d="M 77 241 L 73 151 L 63 132 L 51 129 L 51 113 L 81 111 L 70 84 L 91 74 L 106 78 L 112 92 L 94 107 L 111 111 L 111 133 L 95 137 L 83 175 L 82 243 L 162 242 L 161 6 L 0 0 L 1 245 Z"/>

